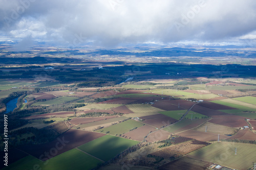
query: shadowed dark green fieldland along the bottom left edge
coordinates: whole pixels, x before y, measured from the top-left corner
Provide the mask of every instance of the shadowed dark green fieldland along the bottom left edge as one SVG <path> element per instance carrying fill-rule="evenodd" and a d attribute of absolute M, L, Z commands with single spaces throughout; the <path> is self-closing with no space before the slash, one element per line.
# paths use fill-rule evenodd
<path fill-rule="evenodd" d="M 41 170 L 70 170 L 70 169 L 84 169 L 90 170 L 102 163 L 100 160 L 83 153 L 77 149 L 72 149 L 63 154 L 55 156 L 48 161 L 42 162 L 41 160 L 27 156 L 22 158 L 7 167 L 4 170 L 17 170 L 17 169 L 41 169 Z"/>

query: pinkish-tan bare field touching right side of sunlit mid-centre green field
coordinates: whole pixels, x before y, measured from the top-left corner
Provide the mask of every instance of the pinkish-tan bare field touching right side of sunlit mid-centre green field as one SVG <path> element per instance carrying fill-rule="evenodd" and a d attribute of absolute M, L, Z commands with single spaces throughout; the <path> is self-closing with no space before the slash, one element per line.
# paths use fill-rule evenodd
<path fill-rule="evenodd" d="M 139 140 L 142 141 L 145 136 L 150 132 L 156 131 L 156 128 L 153 128 L 152 126 L 144 125 L 142 127 L 139 127 L 131 132 L 124 133 L 127 138 L 131 138 L 133 140 Z"/>

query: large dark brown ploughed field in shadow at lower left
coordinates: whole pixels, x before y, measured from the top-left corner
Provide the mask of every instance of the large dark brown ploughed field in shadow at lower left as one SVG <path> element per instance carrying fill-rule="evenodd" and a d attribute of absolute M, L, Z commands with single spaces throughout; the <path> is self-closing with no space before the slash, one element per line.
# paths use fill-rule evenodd
<path fill-rule="evenodd" d="M 51 142 L 38 145 L 27 145 L 19 147 L 18 149 L 42 161 L 46 161 L 54 156 L 67 152 L 81 144 L 87 143 L 104 135 L 105 134 L 102 133 L 70 129 Z M 50 153 L 49 157 L 45 155 L 45 152 Z"/>

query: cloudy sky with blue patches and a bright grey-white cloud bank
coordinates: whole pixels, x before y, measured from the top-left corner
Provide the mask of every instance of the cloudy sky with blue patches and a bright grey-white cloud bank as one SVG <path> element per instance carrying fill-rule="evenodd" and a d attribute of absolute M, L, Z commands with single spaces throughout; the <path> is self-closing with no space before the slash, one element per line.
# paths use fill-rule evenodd
<path fill-rule="evenodd" d="M 0 39 L 111 47 L 183 41 L 253 44 L 256 1 L 0 0 Z"/>

